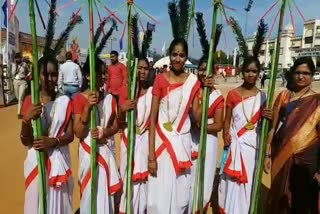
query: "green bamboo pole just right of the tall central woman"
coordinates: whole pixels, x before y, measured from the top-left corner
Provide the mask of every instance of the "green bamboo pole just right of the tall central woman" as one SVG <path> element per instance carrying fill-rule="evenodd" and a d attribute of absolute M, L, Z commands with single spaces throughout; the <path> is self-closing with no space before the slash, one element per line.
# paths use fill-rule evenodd
<path fill-rule="evenodd" d="M 207 76 L 212 75 L 212 70 L 214 65 L 213 47 L 214 47 L 215 35 L 217 31 L 218 9 L 220 6 L 221 6 L 221 0 L 220 1 L 216 0 L 214 3 L 213 15 L 212 15 L 209 58 L 208 58 L 207 71 L 206 71 Z M 194 196 L 193 196 L 193 207 L 192 207 L 193 214 L 196 213 L 197 208 L 200 211 L 200 214 L 203 213 L 204 172 L 205 172 L 206 143 L 207 143 L 209 95 L 210 95 L 209 88 L 205 87 L 203 91 L 203 99 L 202 99 L 200 144 L 198 149 L 199 156 L 198 156 L 197 168 L 196 168 L 196 179 L 194 184 Z M 199 194 L 198 194 L 198 188 L 200 189 Z"/>

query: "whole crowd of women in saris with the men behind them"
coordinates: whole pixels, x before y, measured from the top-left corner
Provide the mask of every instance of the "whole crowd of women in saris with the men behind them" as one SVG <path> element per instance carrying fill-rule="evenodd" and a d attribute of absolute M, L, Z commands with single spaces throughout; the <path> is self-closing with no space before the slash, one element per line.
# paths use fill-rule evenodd
<path fill-rule="evenodd" d="M 210 91 L 204 179 L 205 210 L 210 205 L 216 174 L 218 133 L 223 132 L 226 156 L 219 181 L 220 213 L 246 214 L 251 206 L 261 121 L 271 121 L 265 171 L 271 173 L 266 213 L 318 213 L 320 97 L 311 89 L 315 65 L 307 57 L 288 71 L 287 89 L 273 109 L 266 109 L 266 94 L 258 89 L 261 65 L 256 57 L 244 59 L 243 82 L 226 99 L 206 76 L 203 57 L 198 75 L 185 72 L 188 44 L 174 39 L 169 47 L 170 67 L 153 75 L 150 62 L 138 60 L 137 96 L 128 98 L 127 69 L 111 52 L 111 65 L 95 62 L 97 91 L 90 91 L 90 66 L 71 61 L 60 65 L 53 56 L 39 60 L 41 104 L 30 95 L 20 101 L 21 141 L 28 148 L 25 213 L 39 213 L 39 174 L 36 151 L 47 154 L 47 213 L 72 213 L 74 181 L 69 144 L 79 144 L 80 213 L 91 211 L 91 141 L 97 142 L 97 211 L 126 213 L 127 112 L 136 111 L 136 135 L 131 206 L 136 214 L 191 213 L 195 169 L 200 142 L 202 92 Z M 20 65 L 17 61 L 17 65 Z M 26 87 L 16 68 L 17 88 Z M 19 85 L 19 87 L 18 87 Z M 22 86 L 21 86 L 22 85 Z M 56 90 L 58 88 L 58 90 Z M 20 90 L 18 90 L 20 93 Z M 22 89 L 21 89 L 22 91 Z M 22 92 L 21 92 L 22 93 Z M 20 94 L 19 96 L 20 97 Z M 90 130 L 90 112 L 97 108 L 97 128 Z M 303 113 L 302 113 L 303 111 Z M 41 118 L 42 136 L 34 138 L 31 121 Z M 121 134 L 121 163 L 115 160 L 114 135 Z M 196 208 L 197 209 L 197 208 Z"/>

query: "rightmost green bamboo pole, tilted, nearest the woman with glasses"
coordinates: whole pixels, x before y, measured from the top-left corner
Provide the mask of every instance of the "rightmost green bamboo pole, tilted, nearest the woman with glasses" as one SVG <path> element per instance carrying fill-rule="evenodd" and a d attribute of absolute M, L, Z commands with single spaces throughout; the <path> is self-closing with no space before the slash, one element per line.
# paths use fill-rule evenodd
<path fill-rule="evenodd" d="M 279 28 L 278 28 L 278 36 L 277 36 L 277 45 L 275 48 L 275 54 L 272 61 L 272 68 L 271 68 L 271 76 L 270 82 L 268 86 L 268 95 L 267 95 L 267 108 L 270 109 L 272 107 L 277 72 L 278 72 L 278 64 L 279 64 L 279 55 L 280 55 L 280 44 L 281 44 L 281 33 L 283 29 L 283 20 L 284 14 L 286 9 L 287 0 L 282 0 L 281 11 L 280 11 L 280 19 L 279 19 Z M 257 167 L 255 170 L 255 182 L 253 186 L 252 192 L 252 200 L 250 206 L 250 214 L 256 214 L 259 212 L 259 200 L 260 200 L 260 193 L 261 193 L 261 179 L 264 167 L 264 158 L 266 152 L 266 141 L 268 137 L 269 131 L 269 121 L 267 119 L 263 119 L 262 122 L 262 131 L 261 131 L 261 138 L 260 138 L 260 149 L 258 154 L 258 162 Z"/>

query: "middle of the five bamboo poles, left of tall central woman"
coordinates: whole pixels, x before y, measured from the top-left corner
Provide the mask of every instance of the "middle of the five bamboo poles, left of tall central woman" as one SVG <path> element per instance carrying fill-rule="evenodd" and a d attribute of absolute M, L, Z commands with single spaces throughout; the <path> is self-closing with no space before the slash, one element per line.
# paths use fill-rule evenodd
<path fill-rule="evenodd" d="M 132 72 L 132 4 L 133 1 L 128 1 L 128 48 L 127 48 L 127 73 L 128 73 L 128 98 L 133 100 L 135 97 L 135 82 L 136 82 L 136 67 Z M 128 112 L 128 148 L 127 148 L 127 174 L 126 174 L 126 213 L 132 213 L 132 167 L 133 167 L 133 152 L 135 143 L 135 111 Z"/>

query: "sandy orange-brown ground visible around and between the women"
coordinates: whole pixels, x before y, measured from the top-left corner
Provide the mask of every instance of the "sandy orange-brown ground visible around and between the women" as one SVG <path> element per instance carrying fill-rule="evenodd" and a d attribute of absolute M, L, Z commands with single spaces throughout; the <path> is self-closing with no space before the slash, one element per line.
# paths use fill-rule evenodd
<path fill-rule="evenodd" d="M 217 79 L 217 88 L 224 95 L 227 92 L 241 84 L 241 80 L 236 82 L 234 78 L 224 82 L 221 78 Z M 280 87 L 280 82 L 277 82 L 278 93 L 283 88 Z M 267 83 L 266 83 L 267 85 Z M 320 82 L 313 84 L 315 91 L 320 91 Z M 1 213 L 23 213 L 24 203 L 24 178 L 23 178 L 23 161 L 26 155 L 25 147 L 20 143 L 20 121 L 16 118 L 16 106 L 10 106 L 0 109 L 0 209 Z M 220 140 L 220 151 L 222 149 L 222 141 Z M 78 172 L 78 141 L 75 140 L 71 144 L 72 155 L 72 171 L 75 181 L 77 180 Z M 119 151 L 119 149 L 118 149 Z M 219 152 L 220 155 L 220 152 Z M 119 152 L 118 152 L 119 160 Z M 219 158 L 218 158 L 219 160 Z M 268 178 L 264 177 L 264 183 L 268 184 Z M 74 209 L 79 207 L 79 187 L 75 182 L 74 188 Z"/>

